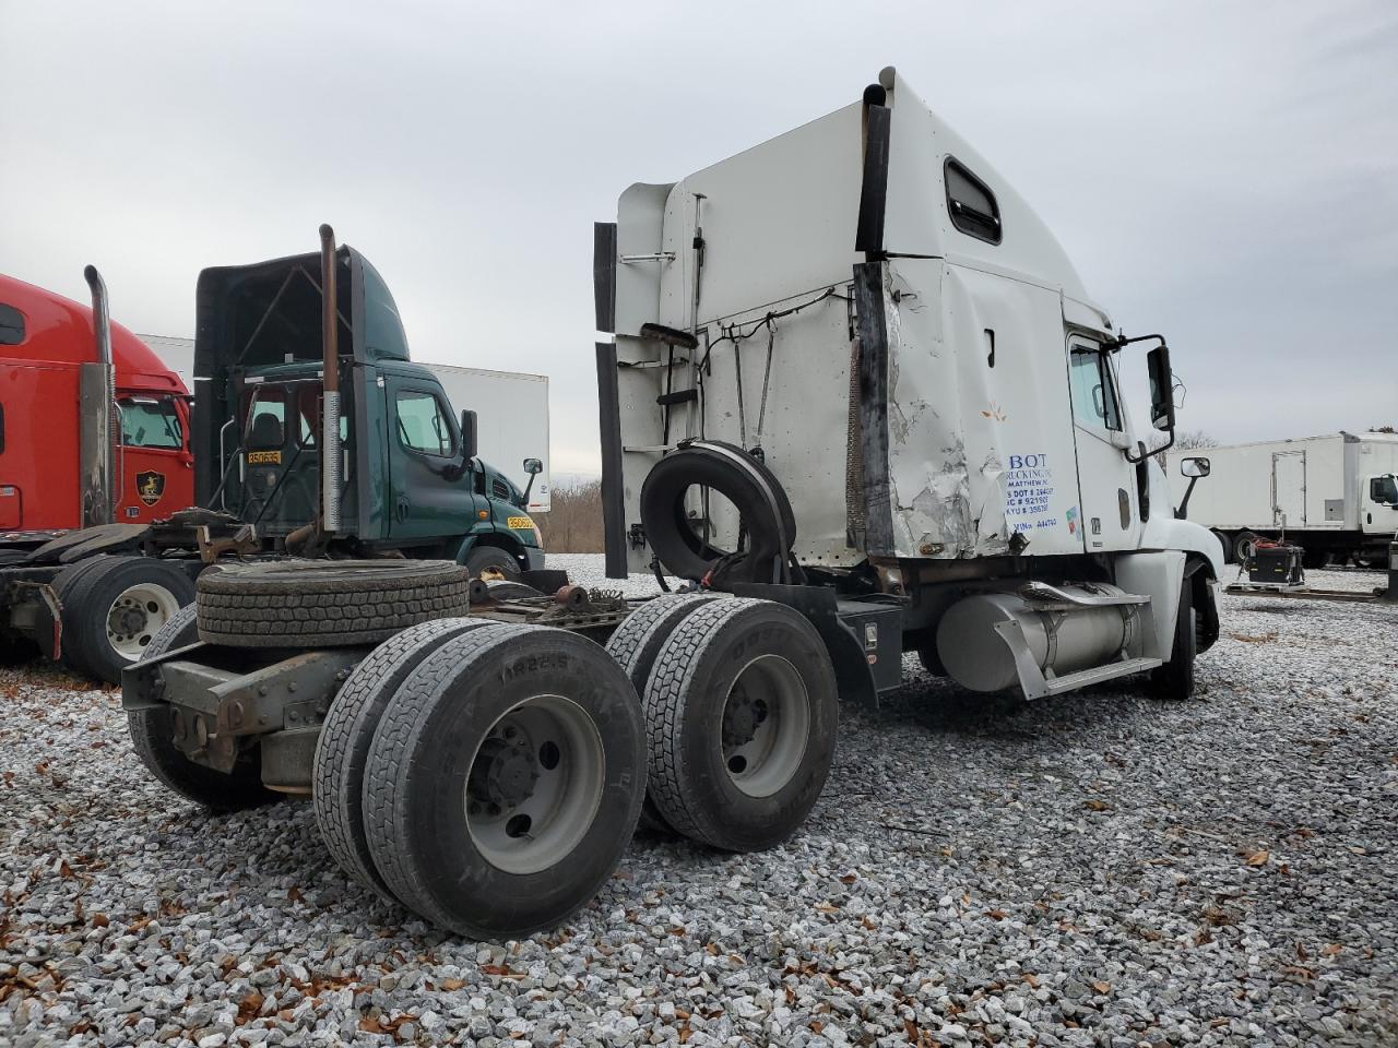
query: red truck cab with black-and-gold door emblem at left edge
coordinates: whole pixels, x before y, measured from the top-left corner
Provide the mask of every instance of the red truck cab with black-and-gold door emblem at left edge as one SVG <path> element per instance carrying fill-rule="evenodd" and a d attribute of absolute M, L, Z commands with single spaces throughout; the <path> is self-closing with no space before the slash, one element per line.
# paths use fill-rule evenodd
<path fill-rule="evenodd" d="M 136 335 L 110 324 L 110 492 L 94 493 L 84 401 L 102 387 L 92 309 L 0 275 L 0 555 L 67 531 L 150 523 L 194 502 L 189 390 Z M 92 388 L 84 388 L 84 369 Z M 94 395 L 96 394 L 96 395 Z"/>

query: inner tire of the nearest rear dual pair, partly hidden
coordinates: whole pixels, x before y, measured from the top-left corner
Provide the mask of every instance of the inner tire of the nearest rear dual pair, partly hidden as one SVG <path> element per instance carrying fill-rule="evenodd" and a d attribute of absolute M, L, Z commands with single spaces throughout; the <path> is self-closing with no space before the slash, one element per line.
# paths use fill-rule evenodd
<path fill-rule="evenodd" d="M 452 637 L 488 625 L 488 619 L 438 619 L 389 637 L 350 674 L 320 725 L 312 770 L 320 836 L 345 873 L 389 901 L 397 900 L 373 865 L 363 829 L 363 773 L 375 729 L 422 660 Z"/>

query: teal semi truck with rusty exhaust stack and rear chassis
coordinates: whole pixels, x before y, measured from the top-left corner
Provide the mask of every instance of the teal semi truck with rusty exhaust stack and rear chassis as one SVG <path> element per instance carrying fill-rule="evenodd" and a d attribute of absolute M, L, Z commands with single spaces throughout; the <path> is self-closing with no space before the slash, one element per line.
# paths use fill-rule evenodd
<path fill-rule="evenodd" d="M 0 570 L 8 640 L 117 683 L 215 562 L 542 569 L 526 510 L 540 460 L 521 490 L 477 457 L 474 412 L 411 361 L 383 278 L 329 226 L 319 254 L 200 274 L 190 436 L 196 507 L 73 531 Z"/>

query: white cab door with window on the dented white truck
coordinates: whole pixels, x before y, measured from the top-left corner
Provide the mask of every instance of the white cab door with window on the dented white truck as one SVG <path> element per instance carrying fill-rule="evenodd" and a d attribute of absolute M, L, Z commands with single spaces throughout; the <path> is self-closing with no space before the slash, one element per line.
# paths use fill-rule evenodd
<path fill-rule="evenodd" d="M 1111 354 L 1089 338 L 1068 340 L 1068 388 L 1078 446 L 1082 539 L 1089 553 L 1135 549 L 1141 542 L 1141 500 Z"/>

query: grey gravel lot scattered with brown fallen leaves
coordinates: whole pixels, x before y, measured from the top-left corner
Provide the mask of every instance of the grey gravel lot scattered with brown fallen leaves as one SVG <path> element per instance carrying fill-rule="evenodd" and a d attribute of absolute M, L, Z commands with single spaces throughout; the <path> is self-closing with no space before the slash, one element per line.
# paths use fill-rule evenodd
<path fill-rule="evenodd" d="M 987 703 L 910 660 L 786 847 L 637 837 L 512 943 L 355 887 L 308 803 L 165 794 L 113 692 L 0 671 L 0 1044 L 1392 1045 L 1395 626 L 1227 598 L 1181 706 Z"/>

